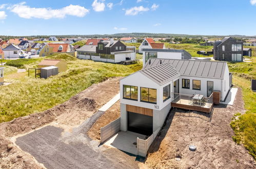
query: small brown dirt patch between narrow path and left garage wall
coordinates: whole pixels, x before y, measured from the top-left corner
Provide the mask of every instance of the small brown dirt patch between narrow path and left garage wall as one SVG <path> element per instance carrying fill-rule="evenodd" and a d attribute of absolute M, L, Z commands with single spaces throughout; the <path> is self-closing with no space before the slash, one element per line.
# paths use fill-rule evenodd
<path fill-rule="evenodd" d="M 101 128 L 109 124 L 111 121 L 120 117 L 120 101 L 114 103 L 110 109 L 108 109 L 96 122 L 92 125 L 88 131 L 90 138 L 94 140 L 101 139 Z"/>

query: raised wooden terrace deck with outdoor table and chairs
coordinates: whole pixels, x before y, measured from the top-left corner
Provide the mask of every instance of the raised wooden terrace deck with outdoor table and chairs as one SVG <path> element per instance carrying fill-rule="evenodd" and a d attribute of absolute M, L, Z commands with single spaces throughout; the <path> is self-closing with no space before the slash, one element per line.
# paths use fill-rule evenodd
<path fill-rule="evenodd" d="M 175 94 L 171 107 L 210 113 L 213 107 L 212 95 L 204 97 L 202 102 L 194 102 L 191 95 Z"/>

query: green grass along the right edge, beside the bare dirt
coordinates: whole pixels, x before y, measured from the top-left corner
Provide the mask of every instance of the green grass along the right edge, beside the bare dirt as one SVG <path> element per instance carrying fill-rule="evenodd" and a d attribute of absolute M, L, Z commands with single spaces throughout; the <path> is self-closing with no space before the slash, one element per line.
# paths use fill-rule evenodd
<path fill-rule="evenodd" d="M 254 54 L 254 53 L 253 53 Z M 238 144 L 243 143 L 249 154 L 256 159 L 256 93 L 251 90 L 250 79 L 256 79 L 256 58 L 253 62 L 229 62 L 229 70 L 233 73 L 233 85 L 242 88 L 246 113 L 236 113 L 230 123 L 234 130 L 232 137 Z"/>

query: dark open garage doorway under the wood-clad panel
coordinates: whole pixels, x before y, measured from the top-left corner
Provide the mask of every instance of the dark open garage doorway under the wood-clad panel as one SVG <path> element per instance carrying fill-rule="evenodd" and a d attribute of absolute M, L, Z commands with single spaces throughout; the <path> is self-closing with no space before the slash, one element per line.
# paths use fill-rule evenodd
<path fill-rule="evenodd" d="M 153 117 L 127 112 L 128 131 L 150 136 L 153 133 Z"/>

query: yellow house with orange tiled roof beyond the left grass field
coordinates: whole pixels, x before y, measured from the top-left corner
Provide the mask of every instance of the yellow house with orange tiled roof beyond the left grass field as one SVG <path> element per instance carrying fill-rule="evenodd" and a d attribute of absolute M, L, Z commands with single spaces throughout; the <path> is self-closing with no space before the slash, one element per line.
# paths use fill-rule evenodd
<path fill-rule="evenodd" d="M 46 44 L 40 50 L 40 56 L 48 56 L 56 53 L 67 53 L 76 57 L 76 51 L 71 51 L 70 44 Z"/>

